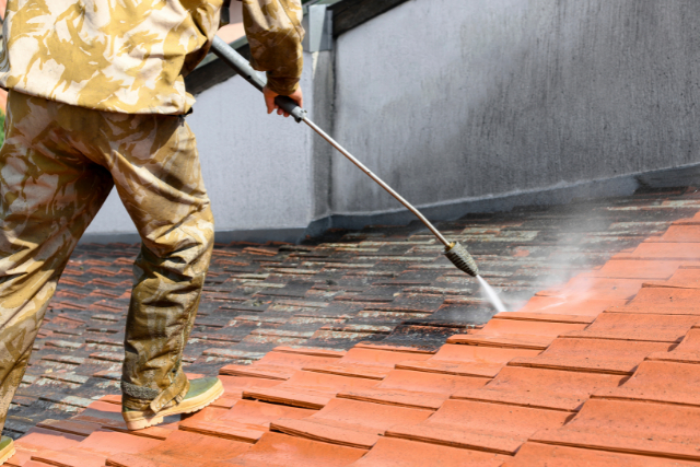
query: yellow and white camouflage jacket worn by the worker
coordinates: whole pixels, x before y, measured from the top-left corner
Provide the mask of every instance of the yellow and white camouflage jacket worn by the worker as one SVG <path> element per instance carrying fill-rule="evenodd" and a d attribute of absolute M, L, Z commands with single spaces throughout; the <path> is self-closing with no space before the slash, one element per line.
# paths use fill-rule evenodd
<path fill-rule="evenodd" d="M 9 0 L 0 86 L 126 114 L 185 114 L 185 75 L 209 51 L 228 0 Z M 303 56 L 300 0 L 243 0 L 257 70 L 291 94 Z"/>

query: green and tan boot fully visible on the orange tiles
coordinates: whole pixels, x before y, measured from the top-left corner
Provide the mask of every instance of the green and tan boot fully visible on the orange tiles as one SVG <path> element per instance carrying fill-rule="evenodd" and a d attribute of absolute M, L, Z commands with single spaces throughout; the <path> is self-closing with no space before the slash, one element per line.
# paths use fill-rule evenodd
<path fill-rule="evenodd" d="M 163 422 L 163 418 L 179 413 L 191 413 L 203 409 L 223 394 L 223 384 L 218 377 L 200 377 L 189 382 L 189 390 L 182 401 L 163 407 L 158 412 L 151 409 L 135 410 L 121 407 L 121 416 L 129 430 L 143 430 Z M 3 436 L 4 439 L 4 436 Z"/>

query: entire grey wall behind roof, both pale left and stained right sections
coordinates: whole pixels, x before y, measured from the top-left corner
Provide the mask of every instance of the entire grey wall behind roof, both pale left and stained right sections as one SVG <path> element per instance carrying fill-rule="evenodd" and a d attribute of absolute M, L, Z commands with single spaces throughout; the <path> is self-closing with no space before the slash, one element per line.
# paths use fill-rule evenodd
<path fill-rule="evenodd" d="M 698 17 L 697 0 L 410 0 L 307 55 L 306 106 L 435 219 L 673 185 L 689 172 L 635 174 L 700 162 Z M 238 77 L 189 122 L 221 240 L 411 219 Z M 129 230 L 114 201 L 89 232 Z"/>

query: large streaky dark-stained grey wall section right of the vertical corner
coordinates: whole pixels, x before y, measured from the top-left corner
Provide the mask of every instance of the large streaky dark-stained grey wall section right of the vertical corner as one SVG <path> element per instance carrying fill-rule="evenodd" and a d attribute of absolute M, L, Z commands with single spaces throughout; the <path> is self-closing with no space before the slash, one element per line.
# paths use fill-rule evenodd
<path fill-rule="evenodd" d="M 699 17 L 695 0 L 412 0 L 339 37 L 335 132 L 418 205 L 697 163 Z M 346 163 L 332 177 L 338 214 L 397 207 Z"/>

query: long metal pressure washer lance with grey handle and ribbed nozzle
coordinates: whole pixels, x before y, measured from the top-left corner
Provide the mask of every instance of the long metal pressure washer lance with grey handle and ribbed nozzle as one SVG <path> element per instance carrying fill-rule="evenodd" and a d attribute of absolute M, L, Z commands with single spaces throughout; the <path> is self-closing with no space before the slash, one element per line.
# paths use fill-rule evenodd
<path fill-rule="evenodd" d="M 258 77 L 255 70 L 253 70 L 253 67 L 250 67 L 250 63 L 248 63 L 248 61 L 245 58 L 243 58 L 241 54 L 238 54 L 231 46 L 229 46 L 229 44 L 226 44 L 220 37 L 214 37 L 211 45 L 211 49 L 219 58 L 221 58 L 223 61 L 229 63 L 231 68 L 233 68 L 244 80 L 253 84 L 258 91 L 262 91 L 262 87 L 265 87 L 265 82 Z M 384 183 L 384 180 L 382 180 L 380 177 L 374 175 L 372 171 L 365 167 L 364 164 L 362 164 L 360 161 L 354 159 L 354 156 L 352 156 L 352 154 L 346 151 L 345 148 L 338 144 L 336 140 L 330 138 L 330 136 L 326 135 L 324 130 L 318 128 L 307 117 L 306 110 L 301 108 L 296 104 L 296 102 L 294 102 L 292 98 L 288 96 L 277 96 L 277 98 L 275 98 L 275 103 L 282 110 L 287 112 L 289 115 L 294 117 L 298 124 L 303 121 L 306 125 L 308 125 L 323 139 L 328 141 L 330 145 L 332 145 L 338 151 L 340 151 L 340 153 L 346 157 L 348 157 L 350 162 L 357 165 L 362 172 L 368 174 L 370 178 L 376 182 L 382 188 L 387 190 L 389 195 L 392 195 L 394 198 L 398 200 L 398 202 L 404 205 L 409 211 L 416 214 L 416 217 L 418 217 L 418 219 L 423 224 L 425 224 L 425 226 L 438 237 L 438 240 L 442 242 L 443 245 L 445 245 L 445 256 L 447 257 L 447 259 L 452 261 L 453 265 L 455 265 L 458 269 L 465 271 L 469 276 L 472 276 L 472 277 L 479 276 L 479 268 L 477 267 L 477 264 L 475 262 L 471 255 L 469 255 L 469 252 L 467 252 L 467 248 L 462 246 L 458 242 L 447 242 L 447 240 L 438 231 L 438 229 L 435 229 L 433 224 L 430 223 L 428 219 L 425 219 L 423 214 L 420 213 L 418 209 L 413 208 L 413 206 L 410 202 L 408 202 L 399 194 L 394 191 L 394 189 L 392 189 L 390 186 L 388 186 L 387 184 Z"/>

